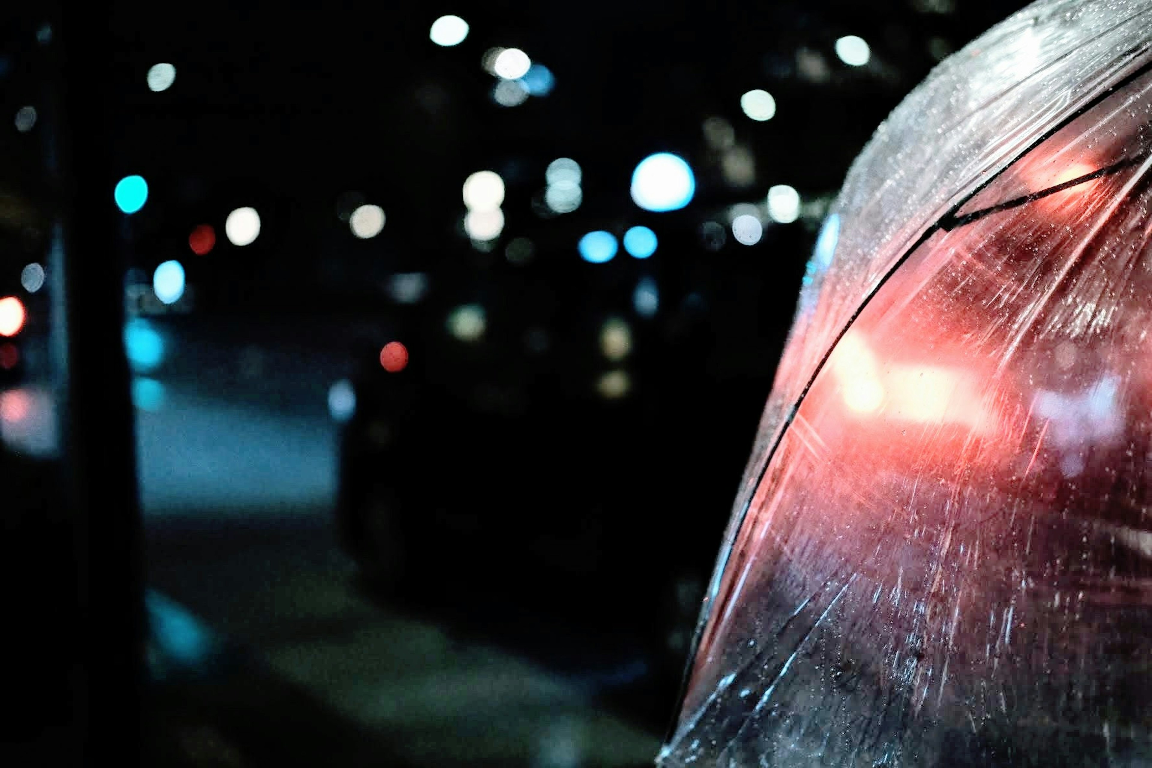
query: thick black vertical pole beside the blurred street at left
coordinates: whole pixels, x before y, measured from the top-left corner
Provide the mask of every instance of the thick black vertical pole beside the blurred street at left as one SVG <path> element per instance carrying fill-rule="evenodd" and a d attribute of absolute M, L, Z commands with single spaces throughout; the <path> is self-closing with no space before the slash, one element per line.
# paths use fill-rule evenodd
<path fill-rule="evenodd" d="M 113 189 L 112 13 L 63 0 L 41 35 L 54 62 L 50 268 L 58 408 L 74 530 L 77 762 L 142 763 L 144 599 L 136 441 L 123 349 L 122 215 Z"/>

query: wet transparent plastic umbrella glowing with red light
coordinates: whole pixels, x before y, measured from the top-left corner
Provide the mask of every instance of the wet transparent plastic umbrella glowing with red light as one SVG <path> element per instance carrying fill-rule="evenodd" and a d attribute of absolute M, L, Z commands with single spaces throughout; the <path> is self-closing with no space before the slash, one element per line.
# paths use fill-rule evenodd
<path fill-rule="evenodd" d="M 819 237 L 674 766 L 1152 765 L 1152 1 L 1034 3 Z"/>

